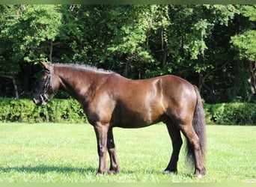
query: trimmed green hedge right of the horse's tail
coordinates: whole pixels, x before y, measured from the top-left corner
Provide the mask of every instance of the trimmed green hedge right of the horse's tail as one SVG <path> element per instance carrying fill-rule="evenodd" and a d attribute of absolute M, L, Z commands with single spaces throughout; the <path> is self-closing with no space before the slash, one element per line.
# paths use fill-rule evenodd
<path fill-rule="evenodd" d="M 227 125 L 255 125 L 255 103 L 219 103 L 204 105 L 207 123 Z"/>

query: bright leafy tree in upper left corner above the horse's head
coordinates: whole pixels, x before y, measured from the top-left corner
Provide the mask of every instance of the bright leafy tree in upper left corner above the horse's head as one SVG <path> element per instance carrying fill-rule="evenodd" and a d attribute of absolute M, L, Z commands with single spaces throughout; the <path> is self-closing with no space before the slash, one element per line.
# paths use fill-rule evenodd
<path fill-rule="evenodd" d="M 0 34 L 3 44 L 0 48 L 1 71 L 19 76 L 24 83 L 23 91 L 33 85 L 31 71 L 34 64 L 54 61 L 54 56 L 58 56 L 53 55 L 54 48 L 70 40 L 70 33 L 74 34 L 70 31 L 73 25 L 67 25 L 68 11 L 65 8 L 53 4 L 1 5 L 1 18 L 4 18 L 1 19 Z M 75 34 L 79 37 L 77 32 Z"/>

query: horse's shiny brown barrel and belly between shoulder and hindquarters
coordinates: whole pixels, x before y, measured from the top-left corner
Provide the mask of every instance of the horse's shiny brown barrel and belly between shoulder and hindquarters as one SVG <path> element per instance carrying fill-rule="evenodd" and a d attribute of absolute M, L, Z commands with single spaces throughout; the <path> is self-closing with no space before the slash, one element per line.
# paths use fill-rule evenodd
<path fill-rule="evenodd" d="M 113 112 L 115 126 L 138 128 L 149 126 L 162 120 L 162 93 L 159 79 L 129 82 L 124 92 L 119 94 Z"/>

